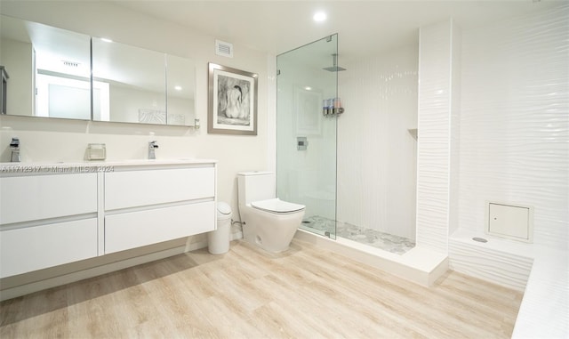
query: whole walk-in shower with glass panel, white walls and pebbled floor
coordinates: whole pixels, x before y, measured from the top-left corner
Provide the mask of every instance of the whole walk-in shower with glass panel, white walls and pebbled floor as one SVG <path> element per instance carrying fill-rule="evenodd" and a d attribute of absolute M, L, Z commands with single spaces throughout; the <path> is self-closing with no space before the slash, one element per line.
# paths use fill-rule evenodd
<path fill-rule="evenodd" d="M 352 61 L 337 42 L 277 58 L 277 195 L 307 206 L 301 229 L 403 254 L 415 234 L 417 39 Z M 349 109 L 323 114 L 339 96 Z"/>

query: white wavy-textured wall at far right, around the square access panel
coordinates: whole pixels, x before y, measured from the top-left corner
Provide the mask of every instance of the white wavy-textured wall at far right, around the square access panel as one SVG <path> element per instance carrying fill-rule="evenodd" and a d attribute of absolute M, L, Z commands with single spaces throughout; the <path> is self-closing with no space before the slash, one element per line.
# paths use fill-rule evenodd
<path fill-rule="evenodd" d="M 534 207 L 533 242 L 569 244 L 569 5 L 462 34 L 459 222 Z"/>

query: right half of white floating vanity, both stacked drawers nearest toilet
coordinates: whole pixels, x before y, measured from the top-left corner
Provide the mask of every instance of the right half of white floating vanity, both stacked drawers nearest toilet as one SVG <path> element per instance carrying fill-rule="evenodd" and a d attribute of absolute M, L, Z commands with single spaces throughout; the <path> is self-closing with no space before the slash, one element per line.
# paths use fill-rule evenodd
<path fill-rule="evenodd" d="M 215 165 L 105 174 L 105 254 L 215 230 Z"/>

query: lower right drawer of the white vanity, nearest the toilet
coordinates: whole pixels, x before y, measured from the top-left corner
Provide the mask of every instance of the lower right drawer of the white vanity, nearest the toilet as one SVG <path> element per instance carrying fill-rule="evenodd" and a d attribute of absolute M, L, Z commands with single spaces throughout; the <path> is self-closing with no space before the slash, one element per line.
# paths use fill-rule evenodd
<path fill-rule="evenodd" d="M 215 202 L 105 216 L 105 254 L 215 229 Z"/>

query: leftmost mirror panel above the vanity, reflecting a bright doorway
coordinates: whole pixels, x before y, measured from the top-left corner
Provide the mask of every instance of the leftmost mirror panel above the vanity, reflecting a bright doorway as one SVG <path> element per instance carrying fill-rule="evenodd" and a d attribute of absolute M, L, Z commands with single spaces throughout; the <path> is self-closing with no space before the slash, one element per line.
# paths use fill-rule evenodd
<path fill-rule="evenodd" d="M 5 114 L 90 119 L 91 37 L 6 16 L 0 21 L 0 65 L 9 75 Z"/>

